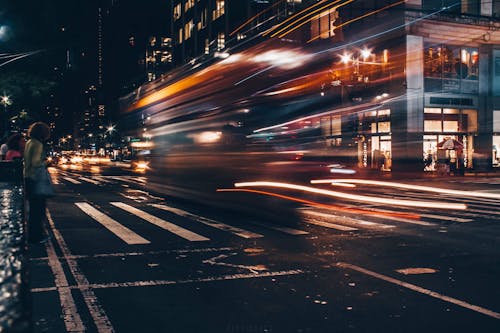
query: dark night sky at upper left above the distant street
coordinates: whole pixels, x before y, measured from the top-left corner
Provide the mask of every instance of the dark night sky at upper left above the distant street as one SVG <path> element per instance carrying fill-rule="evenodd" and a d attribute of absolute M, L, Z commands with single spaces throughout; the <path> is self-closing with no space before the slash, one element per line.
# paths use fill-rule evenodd
<path fill-rule="evenodd" d="M 41 50 L 0 67 L 0 75 L 28 72 L 55 81 L 63 112 L 78 112 L 79 98 L 97 83 L 98 8 L 103 8 L 103 86 L 113 104 L 143 79 L 140 58 L 149 36 L 167 36 L 166 0 L 0 0 L 0 53 Z M 129 43 L 134 37 L 135 43 Z M 67 66 L 69 55 L 69 63 Z M 37 103 L 40 101 L 37 101 Z M 46 101 L 45 101 L 46 102 Z"/>

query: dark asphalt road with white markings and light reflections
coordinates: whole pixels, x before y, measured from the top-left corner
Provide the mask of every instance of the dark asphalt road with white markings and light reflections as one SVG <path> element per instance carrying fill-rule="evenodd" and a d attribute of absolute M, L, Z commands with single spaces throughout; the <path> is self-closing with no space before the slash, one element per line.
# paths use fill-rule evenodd
<path fill-rule="evenodd" d="M 51 171 L 34 332 L 500 332 L 500 178 L 305 184 L 381 203 L 257 186 L 281 197 L 203 204 L 147 174 Z"/>

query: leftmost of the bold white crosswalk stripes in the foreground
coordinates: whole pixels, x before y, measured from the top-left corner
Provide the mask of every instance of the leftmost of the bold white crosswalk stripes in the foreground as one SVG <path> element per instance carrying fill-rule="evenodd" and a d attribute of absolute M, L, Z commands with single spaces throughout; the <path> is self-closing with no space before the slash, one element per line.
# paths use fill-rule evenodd
<path fill-rule="evenodd" d="M 121 240 L 123 240 L 127 244 L 149 244 L 151 243 L 147 239 L 139 236 L 129 228 L 120 224 L 119 222 L 113 220 L 111 217 L 107 216 L 104 213 L 101 213 L 99 210 L 92 207 L 90 204 L 86 202 L 75 202 L 75 205 L 80 208 L 85 214 L 92 217 L 94 220 L 103 225 L 106 229 L 111 231 L 113 234 L 118 236 Z"/>

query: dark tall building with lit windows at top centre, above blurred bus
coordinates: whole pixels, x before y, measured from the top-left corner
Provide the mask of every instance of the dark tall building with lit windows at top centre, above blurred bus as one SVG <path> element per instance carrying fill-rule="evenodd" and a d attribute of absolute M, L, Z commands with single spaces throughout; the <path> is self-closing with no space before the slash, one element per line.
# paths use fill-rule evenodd
<path fill-rule="evenodd" d="M 171 36 L 175 66 L 212 57 L 292 14 L 301 0 L 174 0 Z"/>

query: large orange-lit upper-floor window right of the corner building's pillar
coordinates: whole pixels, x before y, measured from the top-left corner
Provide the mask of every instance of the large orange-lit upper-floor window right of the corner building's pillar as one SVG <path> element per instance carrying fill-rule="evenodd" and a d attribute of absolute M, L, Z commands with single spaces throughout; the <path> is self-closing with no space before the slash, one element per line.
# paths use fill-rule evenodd
<path fill-rule="evenodd" d="M 426 44 L 424 78 L 425 91 L 477 93 L 479 89 L 478 49 Z"/>

